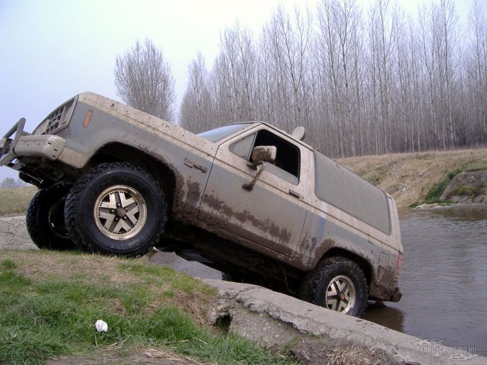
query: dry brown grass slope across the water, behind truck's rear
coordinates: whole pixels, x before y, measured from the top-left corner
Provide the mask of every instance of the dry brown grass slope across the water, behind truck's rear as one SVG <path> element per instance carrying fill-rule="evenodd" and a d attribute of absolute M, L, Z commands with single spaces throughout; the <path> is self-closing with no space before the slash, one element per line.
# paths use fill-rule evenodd
<path fill-rule="evenodd" d="M 431 186 L 445 178 L 445 172 L 487 166 L 487 149 L 360 156 L 337 162 L 387 191 L 398 206 L 408 206 L 423 200 Z"/>

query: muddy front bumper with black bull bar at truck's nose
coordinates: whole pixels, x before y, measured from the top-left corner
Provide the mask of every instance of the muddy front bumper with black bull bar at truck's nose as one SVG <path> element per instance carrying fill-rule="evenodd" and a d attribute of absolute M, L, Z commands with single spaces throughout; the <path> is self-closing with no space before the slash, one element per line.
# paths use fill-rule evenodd
<path fill-rule="evenodd" d="M 0 166 L 15 168 L 15 159 L 33 156 L 54 161 L 58 159 L 66 145 L 66 140 L 53 135 L 31 135 L 24 132 L 25 119 L 21 118 L 0 142 Z M 10 138 L 13 133 L 15 137 Z M 15 168 L 18 170 L 18 168 Z"/>

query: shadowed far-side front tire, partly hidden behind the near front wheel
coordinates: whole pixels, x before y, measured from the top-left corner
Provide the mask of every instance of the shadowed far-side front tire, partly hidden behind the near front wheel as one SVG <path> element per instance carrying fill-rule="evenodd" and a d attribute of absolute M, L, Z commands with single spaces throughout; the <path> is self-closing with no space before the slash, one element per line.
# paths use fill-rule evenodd
<path fill-rule="evenodd" d="M 27 232 L 40 249 L 72 250 L 76 245 L 64 223 L 67 189 L 61 186 L 40 189 L 35 193 L 26 212 Z"/>

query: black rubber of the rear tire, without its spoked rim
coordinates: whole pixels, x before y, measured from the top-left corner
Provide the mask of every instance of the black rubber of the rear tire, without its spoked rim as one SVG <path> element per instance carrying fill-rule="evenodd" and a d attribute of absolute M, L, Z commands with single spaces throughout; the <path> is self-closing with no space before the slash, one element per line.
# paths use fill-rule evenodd
<path fill-rule="evenodd" d="M 328 286 L 337 277 L 349 279 L 355 290 L 355 303 L 349 309 L 345 309 L 346 314 L 360 316 L 367 307 L 369 297 L 367 279 L 356 262 L 344 257 L 327 257 L 321 260 L 303 280 L 299 289 L 299 298 L 326 308 Z"/>

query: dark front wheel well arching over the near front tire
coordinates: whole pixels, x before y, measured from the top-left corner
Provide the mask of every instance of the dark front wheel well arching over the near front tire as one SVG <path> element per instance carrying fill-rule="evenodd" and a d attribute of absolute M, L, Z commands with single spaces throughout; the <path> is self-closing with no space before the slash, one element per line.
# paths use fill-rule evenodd
<path fill-rule="evenodd" d="M 168 202 L 168 211 L 173 208 L 176 177 L 168 165 L 163 161 L 154 159 L 150 154 L 142 152 L 140 149 L 136 149 L 129 145 L 123 145 L 122 143 L 110 143 L 104 145 L 88 162 L 88 168 L 94 168 L 101 163 L 106 162 L 128 162 L 132 165 L 136 165 L 143 168 L 150 173 L 159 185 L 161 186 L 166 200 Z"/>

